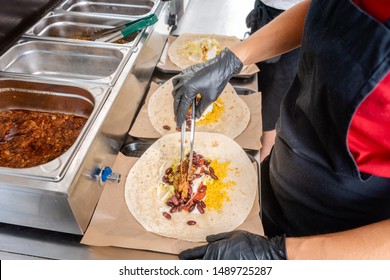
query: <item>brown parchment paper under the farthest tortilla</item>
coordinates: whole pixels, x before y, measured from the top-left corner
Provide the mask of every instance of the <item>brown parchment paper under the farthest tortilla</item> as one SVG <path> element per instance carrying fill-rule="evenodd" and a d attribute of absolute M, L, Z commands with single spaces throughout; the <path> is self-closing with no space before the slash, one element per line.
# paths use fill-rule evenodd
<path fill-rule="evenodd" d="M 157 63 L 157 69 L 159 69 L 163 73 L 170 73 L 170 74 L 178 74 L 183 69 L 174 64 L 169 56 L 168 56 L 168 48 L 170 44 L 172 44 L 173 41 L 176 40 L 176 36 L 169 35 L 167 43 L 165 44 L 165 47 L 163 49 L 163 52 L 161 54 L 161 58 L 159 62 Z M 259 72 L 259 68 L 256 66 L 256 64 L 251 64 L 248 66 L 245 66 L 242 71 L 236 75 L 236 77 L 240 78 L 248 78 L 257 72 Z"/>

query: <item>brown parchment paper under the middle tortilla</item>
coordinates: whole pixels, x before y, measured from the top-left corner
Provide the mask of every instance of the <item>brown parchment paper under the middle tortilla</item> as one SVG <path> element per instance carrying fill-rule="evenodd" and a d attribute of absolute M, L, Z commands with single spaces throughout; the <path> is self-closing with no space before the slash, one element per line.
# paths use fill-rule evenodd
<path fill-rule="evenodd" d="M 131 136 L 145 139 L 157 139 L 161 137 L 161 134 L 154 129 L 148 116 L 149 99 L 158 87 L 158 84 L 151 83 L 145 103 L 141 107 L 138 116 L 129 131 Z M 239 97 L 249 107 L 250 120 L 246 129 L 234 140 L 244 149 L 260 150 L 260 138 L 263 130 L 261 119 L 261 93 L 256 92 L 249 95 L 239 95 Z"/>

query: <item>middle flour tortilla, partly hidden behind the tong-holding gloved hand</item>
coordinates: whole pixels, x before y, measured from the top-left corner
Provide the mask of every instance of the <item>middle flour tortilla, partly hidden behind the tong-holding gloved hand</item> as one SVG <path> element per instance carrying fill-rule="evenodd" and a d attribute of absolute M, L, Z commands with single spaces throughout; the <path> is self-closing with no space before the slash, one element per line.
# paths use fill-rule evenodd
<path fill-rule="evenodd" d="M 172 79 L 161 85 L 150 97 L 148 115 L 154 129 L 161 135 L 176 131 L 173 112 Z M 222 133 L 232 139 L 240 135 L 248 126 L 250 111 L 246 103 L 237 95 L 231 84 L 227 84 L 220 98 L 224 103 L 224 111 L 214 123 L 196 124 L 196 131 Z M 168 125 L 169 130 L 164 129 Z"/>

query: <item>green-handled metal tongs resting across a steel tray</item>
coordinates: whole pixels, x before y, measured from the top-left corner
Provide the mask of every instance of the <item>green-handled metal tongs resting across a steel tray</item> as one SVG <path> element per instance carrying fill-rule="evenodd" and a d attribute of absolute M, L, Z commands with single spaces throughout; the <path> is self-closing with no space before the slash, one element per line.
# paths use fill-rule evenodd
<path fill-rule="evenodd" d="M 110 28 L 108 30 L 101 30 L 93 33 L 91 39 L 98 42 L 112 43 L 119 39 L 125 38 L 130 34 L 138 32 L 145 27 L 148 27 L 157 22 L 155 14 L 147 15 L 146 17 L 122 24 L 120 26 Z"/>

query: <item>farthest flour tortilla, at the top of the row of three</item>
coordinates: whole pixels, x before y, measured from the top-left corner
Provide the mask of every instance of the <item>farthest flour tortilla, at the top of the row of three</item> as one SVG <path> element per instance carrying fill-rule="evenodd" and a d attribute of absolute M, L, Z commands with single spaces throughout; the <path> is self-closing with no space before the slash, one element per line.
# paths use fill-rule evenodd
<path fill-rule="evenodd" d="M 196 42 L 203 38 L 212 38 L 219 42 L 220 49 L 223 50 L 224 48 L 232 47 L 240 42 L 240 39 L 234 36 L 223 36 L 223 35 L 216 35 L 216 34 L 191 34 L 191 33 L 184 33 L 181 34 L 175 41 L 172 42 L 172 44 L 168 48 L 168 57 L 169 59 L 177 65 L 181 69 L 185 69 L 188 66 L 191 66 L 196 63 L 203 62 L 201 60 L 199 61 L 192 61 L 188 58 L 187 55 L 183 54 L 182 50 L 185 48 L 185 43 L 190 42 Z"/>

